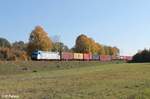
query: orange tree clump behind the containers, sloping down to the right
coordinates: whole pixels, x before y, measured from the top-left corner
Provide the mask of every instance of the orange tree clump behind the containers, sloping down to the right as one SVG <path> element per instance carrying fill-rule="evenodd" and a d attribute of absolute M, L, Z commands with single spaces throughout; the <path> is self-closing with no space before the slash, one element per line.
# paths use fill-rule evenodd
<path fill-rule="evenodd" d="M 81 34 L 76 39 L 75 52 L 92 53 L 99 55 L 118 55 L 119 49 L 117 47 L 105 46 L 95 42 L 92 38 Z"/>

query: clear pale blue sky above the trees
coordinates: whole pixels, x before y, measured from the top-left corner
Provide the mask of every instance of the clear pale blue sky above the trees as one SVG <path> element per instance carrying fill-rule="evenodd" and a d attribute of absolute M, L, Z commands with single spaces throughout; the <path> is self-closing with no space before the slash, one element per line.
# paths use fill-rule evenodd
<path fill-rule="evenodd" d="M 0 0 L 0 37 L 28 42 L 35 26 L 73 47 L 80 34 L 121 55 L 150 48 L 150 0 Z"/>

